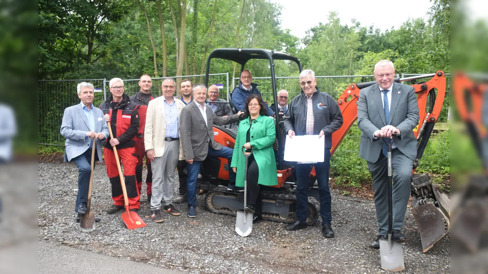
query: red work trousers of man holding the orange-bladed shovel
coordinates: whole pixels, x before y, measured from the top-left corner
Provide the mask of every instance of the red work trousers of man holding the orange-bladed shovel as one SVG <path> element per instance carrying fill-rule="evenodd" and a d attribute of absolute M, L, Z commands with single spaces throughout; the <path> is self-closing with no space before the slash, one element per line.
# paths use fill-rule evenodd
<path fill-rule="evenodd" d="M 138 159 L 134 155 L 134 151 L 135 149 L 133 147 L 117 150 L 117 153 L 119 154 L 119 159 L 117 160 L 122 160 L 125 188 L 129 200 L 129 209 L 139 209 L 139 199 L 141 197 L 136 186 L 136 162 Z M 112 184 L 112 200 L 114 200 L 115 205 L 123 206 L 125 203 L 123 200 L 122 184 L 114 151 L 112 149 L 103 148 L 103 155 L 105 159 L 105 166 L 107 167 L 107 175 L 110 180 L 110 184 Z"/>

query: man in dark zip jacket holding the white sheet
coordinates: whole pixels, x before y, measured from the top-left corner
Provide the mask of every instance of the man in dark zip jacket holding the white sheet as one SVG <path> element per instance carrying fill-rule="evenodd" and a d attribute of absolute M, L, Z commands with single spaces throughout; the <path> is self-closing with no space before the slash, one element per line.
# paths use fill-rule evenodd
<path fill-rule="evenodd" d="M 330 149 L 332 148 L 332 133 L 341 128 L 343 118 L 337 102 L 325 92 L 316 87 L 317 79 L 312 70 L 306 69 L 300 73 L 302 91 L 291 100 L 288 113 L 285 116 L 285 131 L 288 136 L 318 135 L 325 142 L 324 161 L 315 164 L 297 164 L 297 221 L 286 226 L 286 230 L 306 228 L 306 210 L 308 201 L 308 180 L 312 167 L 315 166 L 317 184 L 320 195 L 320 216 L 322 217 L 322 235 L 333 238 L 334 231 L 330 225 L 331 197 L 329 190 Z M 310 148 L 313 149 L 313 148 Z"/>

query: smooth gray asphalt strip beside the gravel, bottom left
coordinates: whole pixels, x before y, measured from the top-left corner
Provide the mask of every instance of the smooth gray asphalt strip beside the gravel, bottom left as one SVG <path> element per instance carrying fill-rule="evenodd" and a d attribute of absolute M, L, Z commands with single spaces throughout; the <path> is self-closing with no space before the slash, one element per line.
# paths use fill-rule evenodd
<path fill-rule="evenodd" d="M 3 271 L 2 271 L 3 272 Z M 20 272 L 19 272 L 20 273 Z M 39 241 L 39 274 L 183 274 L 181 271 Z"/>

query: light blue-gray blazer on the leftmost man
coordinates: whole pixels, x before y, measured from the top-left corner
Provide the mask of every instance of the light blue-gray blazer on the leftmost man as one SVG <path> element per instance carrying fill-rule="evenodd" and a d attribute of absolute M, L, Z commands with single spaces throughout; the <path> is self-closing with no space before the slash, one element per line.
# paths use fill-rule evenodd
<path fill-rule="evenodd" d="M 95 132 L 103 133 L 105 138 L 108 136 L 108 126 L 103 117 L 103 112 L 97 107 L 93 107 L 93 117 L 95 118 Z M 68 107 L 64 110 L 61 123 L 61 135 L 66 138 L 66 148 L 64 161 L 69 162 L 74 157 L 80 156 L 90 147 L 91 138 L 86 137 L 90 131 L 88 119 L 81 104 Z M 97 155 L 102 162 L 102 140 L 96 139 Z"/>

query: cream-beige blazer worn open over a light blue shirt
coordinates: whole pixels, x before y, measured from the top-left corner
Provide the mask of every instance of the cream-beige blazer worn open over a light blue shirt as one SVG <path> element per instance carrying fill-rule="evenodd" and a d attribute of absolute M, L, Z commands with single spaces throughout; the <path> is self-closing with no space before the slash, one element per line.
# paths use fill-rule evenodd
<path fill-rule="evenodd" d="M 181 125 L 181 112 L 185 104 L 176 98 L 176 108 L 178 109 L 178 123 Z M 182 134 L 180 136 L 180 160 L 184 159 L 182 147 Z M 162 157 L 164 154 L 164 137 L 166 136 L 166 115 L 164 112 L 164 97 L 158 97 L 149 101 L 146 112 L 146 123 L 144 125 L 144 147 L 147 150 L 154 149 L 155 157 Z"/>

